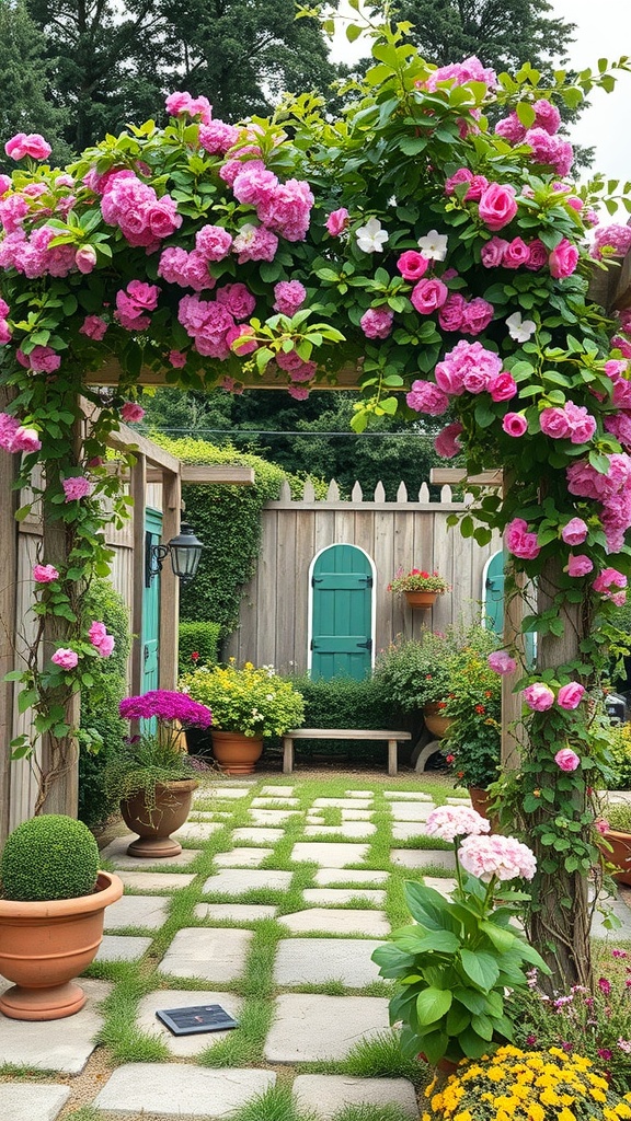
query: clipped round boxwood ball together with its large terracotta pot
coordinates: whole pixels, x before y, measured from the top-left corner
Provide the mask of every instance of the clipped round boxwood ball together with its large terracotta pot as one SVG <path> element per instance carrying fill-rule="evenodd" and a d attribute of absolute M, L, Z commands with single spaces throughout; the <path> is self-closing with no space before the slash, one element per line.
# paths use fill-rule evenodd
<path fill-rule="evenodd" d="M 122 895 L 99 871 L 99 849 L 83 822 L 45 814 L 9 834 L 0 862 L 0 973 L 17 982 L 0 997 L 16 1020 L 57 1020 L 79 1012 L 73 982 L 94 960 L 103 914 Z"/>

